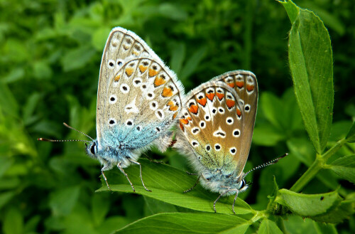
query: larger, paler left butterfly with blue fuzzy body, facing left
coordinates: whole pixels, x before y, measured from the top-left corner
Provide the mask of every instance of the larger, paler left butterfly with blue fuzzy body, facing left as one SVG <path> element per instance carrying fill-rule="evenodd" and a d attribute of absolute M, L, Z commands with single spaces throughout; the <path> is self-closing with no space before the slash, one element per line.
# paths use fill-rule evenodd
<path fill-rule="evenodd" d="M 121 27 L 111 30 L 99 73 L 97 139 L 86 141 L 87 154 L 103 165 L 109 189 L 104 171 L 117 166 L 135 191 L 124 169 L 137 164 L 143 187 L 150 191 L 137 160 L 151 145 L 160 151 L 168 148 L 184 93 L 175 73 L 136 33 Z"/>

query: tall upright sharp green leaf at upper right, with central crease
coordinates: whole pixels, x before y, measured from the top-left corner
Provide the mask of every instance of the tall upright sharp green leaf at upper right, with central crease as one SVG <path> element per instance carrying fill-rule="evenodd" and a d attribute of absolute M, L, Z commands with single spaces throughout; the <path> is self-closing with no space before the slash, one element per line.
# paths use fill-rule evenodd
<path fill-rule="evenodd" d="M 320 18 L 300 10 L 290 31 L 288 52 L 305 128 L 321 154 L 332 125 L 334 87 L 330 38 Z"/>

